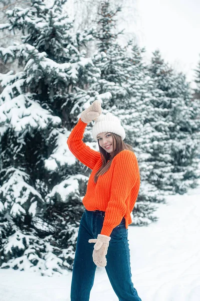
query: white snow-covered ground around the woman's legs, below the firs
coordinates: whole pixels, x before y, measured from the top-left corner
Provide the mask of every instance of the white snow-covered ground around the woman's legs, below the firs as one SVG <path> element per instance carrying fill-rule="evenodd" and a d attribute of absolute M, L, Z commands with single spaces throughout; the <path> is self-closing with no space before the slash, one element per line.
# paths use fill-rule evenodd
<path fill-rule="evenodd" d="M 200 300 L 200 186 L 170 196 L 148 227 L 129 226 L 132 281 L 142 301 Z M 42 277 L 0 269 L 1 301 L 70 301 L 72 273 Z M 97 268 L 90 301 L 118 301 L 105 269 Z"/>

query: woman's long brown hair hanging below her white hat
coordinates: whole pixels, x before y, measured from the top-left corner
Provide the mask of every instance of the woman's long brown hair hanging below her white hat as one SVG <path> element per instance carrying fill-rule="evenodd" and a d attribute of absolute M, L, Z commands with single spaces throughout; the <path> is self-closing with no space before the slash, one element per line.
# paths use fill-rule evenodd
<path fill-rule="evenodd" d="M 115 150 L 112 154 L 107 153 L 106 150 L 100 146 L 99 141 L 98 141 L 99 151 L 100 151 L 100 154 L 101 154 L 103 164 L 94 176 L 94 183 L 97 183 L 97 180 L 98 180 L 99 176 L 102 176 L 103 174 L 105 174 L 109 170 L 113 158 L 117 154 L 119 154 L 122 150 L 129 149 L 129 150 L 131 150 L 131 152 L 134 153 L 132 146 L 127 144 L 127 143 L 124 143 L 121 136 L 119 136 L 115 133 L 112 133 L 112 132 L 110 132 L 110 133 L 113 137 L 113 149 L 115 149 Z M 110 160 L 110 161 L 108 162 L 108 160 Z"/>

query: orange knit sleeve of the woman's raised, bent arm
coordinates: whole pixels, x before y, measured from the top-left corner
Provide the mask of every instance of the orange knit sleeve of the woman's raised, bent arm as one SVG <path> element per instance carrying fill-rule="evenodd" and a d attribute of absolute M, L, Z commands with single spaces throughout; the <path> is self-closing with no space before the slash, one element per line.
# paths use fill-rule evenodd
<path fill-rule="evenodd" d="M 91 149 L 88 145 L 83 142 L 84 130 L 87 123 L 83 122 L 81 118 L 71 131 L 67 145 L 71 150 L 72 154 L 84 165 L 89 167 L 91 170 L 95 167 L 98 160 L 101 158 L 99 152 Z"/>

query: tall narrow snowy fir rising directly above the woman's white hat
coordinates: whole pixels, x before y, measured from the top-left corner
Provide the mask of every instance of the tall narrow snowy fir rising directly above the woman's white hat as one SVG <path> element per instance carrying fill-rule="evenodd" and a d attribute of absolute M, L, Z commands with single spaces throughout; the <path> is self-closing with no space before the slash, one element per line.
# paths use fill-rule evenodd
<path fill-rule="evenodd" d="M 126 47 L 118 42 L 118 37 L 123 33 L 117 32 L 117 13 L 121 7 L 111 7 L 110 0 L 103 0 L 99 6 L 97 20 L 98 27 L 95 34 L 98 52 L 102 59 L 94 62 L 101 70 L 101 78 L 94 84 L 94 89 L 99 93 L 110 92 L 112 97 L 105 103 L 103 108 L 109 110 L 113 105 L 123 108 L 125 102 L 130 99 L 130 85 L 127 84 L 129 77 L 127 65 Z"/>

